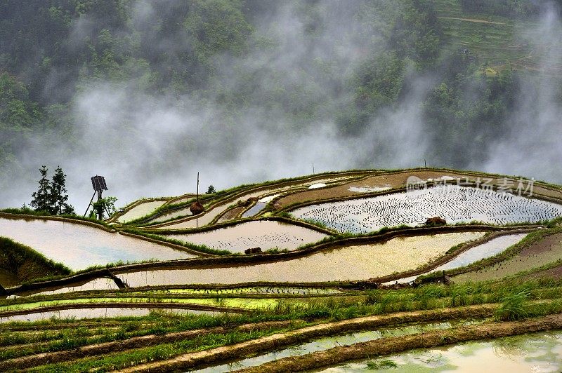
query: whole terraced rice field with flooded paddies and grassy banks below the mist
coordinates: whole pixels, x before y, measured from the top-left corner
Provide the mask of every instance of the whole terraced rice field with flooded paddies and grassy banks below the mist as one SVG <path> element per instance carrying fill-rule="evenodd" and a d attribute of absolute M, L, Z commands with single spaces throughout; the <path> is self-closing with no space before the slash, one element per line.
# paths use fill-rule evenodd
<path fill-rule="evenodd" d="M 1 236 L 21 238 L 22 243 L 74 270 L 98 259 L 102 264 L 110 259 L 171 259 L 112 266 L 110 272 L 124 281 L 124 285 L 117 281 L 122 288 L 115 280 L 100 278 L 110 276 L 103 270 L 18 287 L 8 287 L 0 276 L 0 284 L 6 285 L 6 289 L 0 287 L 0 372 L 386 368 L 397 372 L 506 368 L 558 372 L 562 279 L 541 275 L 544 269 L 561 268 L 558 220 L 512 231 L 483 224 L 362 233 L 381 226 L 423 224 L 436 215 L 449 224 L 537 222 L 560 217 L 562 204 L 458 186 L 386 194 L 404 186 L 411 176 L 427 180 L 460 175 L 448 170 L 370 171 L 273 183 L 263 189 L 249 188 L 241 195 L 218 194 L 226 199 L 211 197 L 209 205 L 215 207 L 198 221 L 178 219 L 159 226 L 172 229 L 165 232 L 166 238 L 230 250 L 233 255 L 195 257 L 178 252 L 183 256 L 176 256 L 169 254 L 176 251 L 167 246 L 94 226 L 36 217 L 0 218 Z M 490 179 L 499 185 L 499 177 Z M 308 189 L 313 184 L 326 186 Z M 535 192 L 562 201 L 562 191 L 556 186 L 537 182 Z M 253 208 L 244 207 L 251 197 L 261 199 Z M 341 197 L 358 199 L 337 201 Z M 321 202 L 327 198 L 335 199 Z M 292 217 L 282 206 L 308 200 L 318 202 L 297 207 L 292 214 L 357 234 L 333 234 L 325 239 L 324 229 L 285 223 Z M 270 202 L 268 216 L 273 219 L 256 219 L 255 214 Z M 152 207 L 141 203 L 125 218 Z M 181 215 L 181 211 L 172 214 L 176 213 Z M 250 218 L 228 227 L 212 226 L 221 215 L 224 221 L 242 213 Z M 282 217 L 283 223 L 275 216 Z M 205 224 L 210 225 L 196 233 L 173 230 Z M 112 227 L 136 229 L 138 234 L 164 233 L 143 224 L 117 222 Z M 525 232 L 530 233 L 525 237 Z M 157 236 L 150 237 L 158 242 Z M 298 250 L 319 240 L 318 245 Z M 10 248 L 8 240 L 2 243 L 9 250 L 18 248 L 15 244 Z M 241 255 L 250 247 L 293 251 Z M 457 251 L 452 248 L 462 252 L 455 257 Z M 489 258 L 498 253 L 502 255 Z M 19 270 L 12 264 L 17 258 L 10 255 L 17 252 L 0 256 L 6 273 Z M 188 260 L 174 262 L 178 257 Z M 403 282 L 405 276 L 431 271 L 432 266 L 433 271 L 447 271 L 483 258 L 488 259 L 465 269 L 481 271 L 458 276 L 450 271 L 452 283 L 379 284 L 400 277 Z M 502 262 L 492 265 L 494 260 Z M 532 273 L 525 272 L 529 269 Z M 488 278 L 492 281 L 478 282 Z M 530 339 L 490 341 L 515 334 L 527 334 Z M 435 347 L 443 345 L 449 346 Z M 485 362 L 485 369 L 478 362 Z"/>

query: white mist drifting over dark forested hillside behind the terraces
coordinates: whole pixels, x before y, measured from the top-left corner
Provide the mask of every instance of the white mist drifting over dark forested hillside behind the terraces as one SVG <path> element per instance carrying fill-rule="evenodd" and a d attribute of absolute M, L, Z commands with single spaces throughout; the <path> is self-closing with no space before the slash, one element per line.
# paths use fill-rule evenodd
<path fill-rule="evenodd" d="M 514 9 L 541 66 L 487 76 L 429 0 L 2 1 L 0 206 L 28 203 L 43 164 L 79 213 L 96 174 L 119 203 L 312 163 L 562 182 L 559 8 Z"/>

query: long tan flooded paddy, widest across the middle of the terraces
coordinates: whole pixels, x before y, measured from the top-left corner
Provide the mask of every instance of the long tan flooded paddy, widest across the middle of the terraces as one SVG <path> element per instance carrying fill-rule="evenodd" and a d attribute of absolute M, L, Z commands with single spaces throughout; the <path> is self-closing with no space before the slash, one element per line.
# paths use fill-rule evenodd
<path fill-rule="evenodd" d="M 484 232 L 393 238 L 386 243 L 342 247 L 283 262 L 213 269 L 168 269 L 117 274 L 131 287 L 249 282 L 317 283 L 367 280 L 427 264 L 451 247 Z"/>

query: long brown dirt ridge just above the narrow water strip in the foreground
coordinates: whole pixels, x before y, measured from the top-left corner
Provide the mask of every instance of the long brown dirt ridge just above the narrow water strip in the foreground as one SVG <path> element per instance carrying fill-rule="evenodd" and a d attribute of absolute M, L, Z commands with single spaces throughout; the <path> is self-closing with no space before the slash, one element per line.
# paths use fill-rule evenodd
<path fill-rule="evenodd" d="M 458 318 L 486 318 L 492 316 L 497 308 L 495 304 L 485 304 L 479 306 L 468 306 L 459 308 L 445 308 L 431 311 L 413 311 L 393 313 L 385 316 L 367 316 L 363 318 L 354 318 L 350 320 L 338 321 L 335 323 L 326 323 L 314 325 L 311 327 L 303 327 L 287 333 L 273 334 L 268 337 L 245 341 L 240 344 L 230 346 L 222 346 L 212 348 L 207 351 L 196 353 L 186 353 L 176 358 L 150 362 L 147 364 L 137 365 L 122 369 L 119 372 L 169 372 L 174 370 L 193 369 L 205 365 L 212 365 L 217 362 L 225 362 L 226 360 L 240 359 L 245 355 L 263 353 L 273 351 L 283 346 L 297 344 L 302 341 L 308 341 L 318 337 L 327 335 L 353 332 L 357 330 L 367 330 L 374 327 L 395 325 L 399 323 L 412 323 L 430 320 L 445 320 Z M 562 324 L 562 321 L 561 321 Z M 291 369 L 286 369 L 290 371 Z M 264 372 L 266 370 L 260 370 Z"/>

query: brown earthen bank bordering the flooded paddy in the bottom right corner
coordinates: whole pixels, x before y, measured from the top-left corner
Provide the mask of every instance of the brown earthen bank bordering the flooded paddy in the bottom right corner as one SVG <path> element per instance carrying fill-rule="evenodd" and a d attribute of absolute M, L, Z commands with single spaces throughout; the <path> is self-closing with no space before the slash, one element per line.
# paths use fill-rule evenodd
<path fill-rule="evenodd" d="M 369 359 L 379 355 L 400 353 L 413 348 L 433 348 L 464 341 L 509 337 L 516 334 L 556 329 L 562 329 L 562 314 L 521 322 L 485 323 L 404 337 L 382 338 L 351 346 L 334 347 L 308 355 L 283 358 L 237 372 L 301 372 L 308 369 L 334 366 L 349 360 Z"/>

